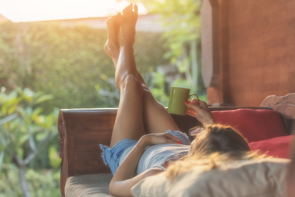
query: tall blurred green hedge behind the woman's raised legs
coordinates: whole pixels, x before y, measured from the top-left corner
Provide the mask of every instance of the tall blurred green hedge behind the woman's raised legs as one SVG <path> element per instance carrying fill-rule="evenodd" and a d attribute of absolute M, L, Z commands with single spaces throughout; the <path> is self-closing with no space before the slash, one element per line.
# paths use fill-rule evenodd
<path fill-rule="evenodd" d="M 53 95 L 39 105 L 45 113 L 54 107 L 118 106 L 98 93 L 101 87 L 113 88 L 108 78 L 114 77 L 114 65 L 103 49 L 105 29 L 55 22 L 5 23 L 0 29 L 0 83 L 8 92 L 19 86 Z M 168 62 L 162 58 L 163 44 L 159 33 L 137 32 L 134 48 L 141 73 Z"/>

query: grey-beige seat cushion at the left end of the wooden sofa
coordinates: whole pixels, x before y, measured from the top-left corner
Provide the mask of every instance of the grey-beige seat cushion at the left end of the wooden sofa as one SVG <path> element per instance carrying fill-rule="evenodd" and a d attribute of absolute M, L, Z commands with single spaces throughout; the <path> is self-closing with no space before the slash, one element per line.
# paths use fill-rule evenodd
<path fill-rule="evenodd" d="M 65 184 L 66 197 L 107 197 L 109 195 L 108 186 L 113 175 L 93 174 L 71 176 Z"/>

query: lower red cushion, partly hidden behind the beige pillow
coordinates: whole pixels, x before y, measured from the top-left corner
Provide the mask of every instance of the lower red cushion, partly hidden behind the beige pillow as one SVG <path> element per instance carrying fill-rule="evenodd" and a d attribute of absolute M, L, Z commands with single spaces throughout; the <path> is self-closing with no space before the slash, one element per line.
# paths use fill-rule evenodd
<path fill-rule="evenodd" d="M 259 142 L 251 142 L 249 146 L 252 150 L 260 150 L 261 153 L 267 153 L 268 156 L 290 158 L 293 137 L 294 135 L 287 135 Z"/>

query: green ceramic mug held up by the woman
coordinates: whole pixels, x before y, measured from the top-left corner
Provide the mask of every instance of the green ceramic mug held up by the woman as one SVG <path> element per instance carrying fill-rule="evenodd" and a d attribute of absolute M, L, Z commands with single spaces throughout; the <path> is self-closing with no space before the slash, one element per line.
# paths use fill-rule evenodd
<path fill-rule="evenodd" d="M 188 107 L 184 104 L 185 101 L 188 101 L 191 96 L 196 96 L 196 94 L 190 94 L 191 89 L 180 88 L 171 86 L 171 92 L 168 103 L 168 113 L 186 115 Z"/>

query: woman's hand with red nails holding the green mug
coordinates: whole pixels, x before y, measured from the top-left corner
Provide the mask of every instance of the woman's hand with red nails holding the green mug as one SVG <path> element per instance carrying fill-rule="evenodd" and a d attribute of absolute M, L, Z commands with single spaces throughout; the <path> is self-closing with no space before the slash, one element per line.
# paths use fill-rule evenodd
<path fill-rule="evenodd" d="M 206 102 L 200 99 L 192 99 L 191 101 L 185 102 L 185 105 L 188 106 L 187 115 L 196 118 L 204 126 L 216 124 L 216 121 Z"/>

